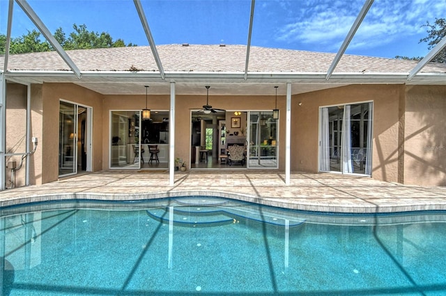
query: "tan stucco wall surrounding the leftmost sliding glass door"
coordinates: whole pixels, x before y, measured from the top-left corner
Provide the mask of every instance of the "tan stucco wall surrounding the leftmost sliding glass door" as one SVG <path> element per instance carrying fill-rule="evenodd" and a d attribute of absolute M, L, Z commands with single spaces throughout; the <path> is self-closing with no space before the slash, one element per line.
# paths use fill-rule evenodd
<path fill-rule="evenodd" d="M 93 108 L 92 170 L 102 170 L 102 94 L 72 83 L 43 84 L 43 183 L 59 178 L 59 100 Z"/>

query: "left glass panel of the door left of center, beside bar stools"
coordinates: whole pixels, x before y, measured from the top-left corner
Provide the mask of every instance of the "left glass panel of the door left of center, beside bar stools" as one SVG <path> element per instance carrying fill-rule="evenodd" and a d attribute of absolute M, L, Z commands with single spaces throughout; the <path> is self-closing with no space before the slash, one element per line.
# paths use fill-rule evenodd
<path fill-rule="evenodd" d="M 145 152 L 139 144 L 139 111 L 112 111 L 111 120 L 110 167 L 139 168 Z"/>

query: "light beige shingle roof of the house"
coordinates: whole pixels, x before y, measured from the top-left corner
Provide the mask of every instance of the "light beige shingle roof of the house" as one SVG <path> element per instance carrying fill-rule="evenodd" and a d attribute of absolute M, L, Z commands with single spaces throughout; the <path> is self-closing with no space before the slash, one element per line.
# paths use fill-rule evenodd
<path fill-rule="evenodd" d="M 157 46 L 165 72 L 244 72 L 247 47 L 244 45 L 169 44 Z M 150 47 L 116 47 L 67 51 L 81 71 L 157 72 Z M 325 73 L 335 54 L 251 47 L 249 72 Z M 3 69 L 4 57 L 0 58 Z M 344 55 L 334 72 L 408 73 L 417 65 L 413 60 Z M 70 68 L 55 52 L 10 55 L 9 70 L 68 71 Z M 446 73 L 446 65 L 429 63 L 426 73 Z"/>

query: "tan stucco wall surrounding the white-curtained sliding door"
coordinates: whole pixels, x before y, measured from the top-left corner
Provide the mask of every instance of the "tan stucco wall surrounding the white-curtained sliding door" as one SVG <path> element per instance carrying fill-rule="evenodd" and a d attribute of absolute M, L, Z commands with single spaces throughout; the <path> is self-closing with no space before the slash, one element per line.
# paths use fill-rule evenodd
<path fill-rule="evenodd" d="M 319 107 L 373 101 L 372 177 L 397 182 L 399 102 L 403 91 L 403 85 L 348 85 L 293 96 L 291 170 L 318 172 Z"/>

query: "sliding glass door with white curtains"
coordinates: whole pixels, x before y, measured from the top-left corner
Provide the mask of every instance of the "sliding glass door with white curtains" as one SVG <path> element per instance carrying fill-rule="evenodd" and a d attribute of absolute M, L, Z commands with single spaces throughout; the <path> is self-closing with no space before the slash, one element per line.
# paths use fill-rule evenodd
<path fill-rule="evenodd" d="M 373 103 L 320 109 L 319 170 L 371 175 Z"/>

